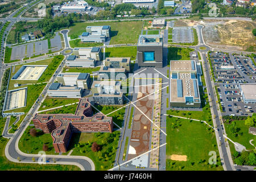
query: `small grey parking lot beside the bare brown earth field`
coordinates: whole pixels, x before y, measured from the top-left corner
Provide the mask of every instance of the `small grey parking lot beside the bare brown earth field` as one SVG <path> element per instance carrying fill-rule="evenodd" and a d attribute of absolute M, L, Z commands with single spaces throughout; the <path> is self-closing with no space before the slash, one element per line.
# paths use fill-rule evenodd
<path fill-rule="evenodd" d="M 192 43 L 194 41 L 193 30 L 188 27 L 174 27 L 173 42 L 175 43 Z"/>

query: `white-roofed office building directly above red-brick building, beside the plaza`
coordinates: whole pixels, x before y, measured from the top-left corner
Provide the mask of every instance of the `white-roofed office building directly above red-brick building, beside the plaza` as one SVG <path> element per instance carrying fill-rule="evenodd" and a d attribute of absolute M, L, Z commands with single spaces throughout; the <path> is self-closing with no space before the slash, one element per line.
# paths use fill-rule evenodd
<path fill-rule="evenodd" d="M 93 81 L 93 100 L 100 105 L 122 105 L 123 92 L 120 81 Z"/>

